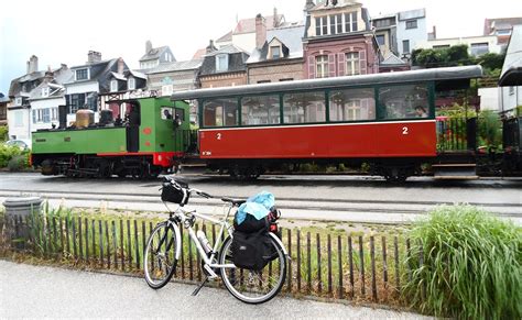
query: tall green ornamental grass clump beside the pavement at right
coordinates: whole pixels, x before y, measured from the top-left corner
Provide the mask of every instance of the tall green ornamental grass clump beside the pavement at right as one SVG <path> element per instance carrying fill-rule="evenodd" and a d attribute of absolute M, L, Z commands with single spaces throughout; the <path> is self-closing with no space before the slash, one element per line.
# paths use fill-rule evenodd
<path fill-rule="evenodd" d="M 464 319 L 522 318 L 522 229 L 471 206 L 443 206 L 414 224 L 407 301 Z"/>

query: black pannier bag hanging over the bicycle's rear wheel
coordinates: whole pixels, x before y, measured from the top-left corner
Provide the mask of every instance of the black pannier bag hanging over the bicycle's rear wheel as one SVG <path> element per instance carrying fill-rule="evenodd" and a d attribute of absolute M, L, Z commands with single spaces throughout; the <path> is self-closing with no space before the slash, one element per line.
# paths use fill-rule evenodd
<path fill-rule="evenodd" d="M 270 234 L 264 230 L 255 233 L 235 231 L 231 252 L 233 264 L 250 271 L 263 269 L 278 256 Z"/>

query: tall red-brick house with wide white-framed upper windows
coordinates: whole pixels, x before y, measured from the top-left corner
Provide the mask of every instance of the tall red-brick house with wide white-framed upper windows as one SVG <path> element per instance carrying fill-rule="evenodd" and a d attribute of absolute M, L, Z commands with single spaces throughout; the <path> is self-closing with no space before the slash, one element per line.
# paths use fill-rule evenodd
<path fill-rule="evenodd" d="M 307 0 L 305 12 L 304 78 L 379 73 L 379 45 L 361 3 Z"/>

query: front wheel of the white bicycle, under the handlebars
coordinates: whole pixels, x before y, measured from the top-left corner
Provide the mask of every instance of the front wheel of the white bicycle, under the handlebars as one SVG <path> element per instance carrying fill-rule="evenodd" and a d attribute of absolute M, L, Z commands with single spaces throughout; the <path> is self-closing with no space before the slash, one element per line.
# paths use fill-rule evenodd
<path fill-rule="evenodd" d="M 171 280 L 176 269 L 177 239 L 174 228 L 166 221 L 159 223 L 152 231 L 143 256 L 143 271 L 146 284 L 160 289 Z"/>

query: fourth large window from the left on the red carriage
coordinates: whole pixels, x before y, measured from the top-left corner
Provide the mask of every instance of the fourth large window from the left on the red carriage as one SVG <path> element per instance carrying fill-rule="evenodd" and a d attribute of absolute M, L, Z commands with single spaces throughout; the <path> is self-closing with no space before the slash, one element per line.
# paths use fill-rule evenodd
<path fill-rule="evenodd" d="M 373 88 L 334 90 L 329 95 L 330 121 L 376 119 Z"/>

